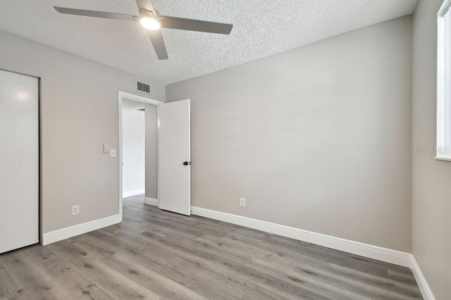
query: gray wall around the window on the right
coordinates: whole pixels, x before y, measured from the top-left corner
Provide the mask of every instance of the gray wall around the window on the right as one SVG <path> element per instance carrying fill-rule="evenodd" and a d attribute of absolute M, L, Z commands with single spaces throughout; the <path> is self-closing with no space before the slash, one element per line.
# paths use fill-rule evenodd
<path fill-rule="evenodd" d="M 443 0 L 421 0 L 414 13 L 413 146 L 435 146 L 437 12 Z M 435 299 L 450 298 L 451 163 L 412 156 L 412 253 Z"/>

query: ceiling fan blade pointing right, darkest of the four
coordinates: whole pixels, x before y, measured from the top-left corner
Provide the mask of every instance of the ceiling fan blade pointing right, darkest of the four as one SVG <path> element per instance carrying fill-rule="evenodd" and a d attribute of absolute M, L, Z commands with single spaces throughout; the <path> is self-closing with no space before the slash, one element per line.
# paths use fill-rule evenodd
<path fill-rule="evenodd" d="M 161 15 L 161 27 L 211 33 L 230 34 L 233 25 L 185 18 L 166 17 Z"/>

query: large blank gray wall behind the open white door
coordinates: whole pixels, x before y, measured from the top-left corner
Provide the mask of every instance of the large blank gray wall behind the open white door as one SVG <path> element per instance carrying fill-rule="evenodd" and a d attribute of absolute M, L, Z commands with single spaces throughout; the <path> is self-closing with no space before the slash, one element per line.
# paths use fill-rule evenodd
<path fill-rule="evenodd" d="M 409 252 L 411 79 L 408 16 L 168 85 L 192 205 Z"/>

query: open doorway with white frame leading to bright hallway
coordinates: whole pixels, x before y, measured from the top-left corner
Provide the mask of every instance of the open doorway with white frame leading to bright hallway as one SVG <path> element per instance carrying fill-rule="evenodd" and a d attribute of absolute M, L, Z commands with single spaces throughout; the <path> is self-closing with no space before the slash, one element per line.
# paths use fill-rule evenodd
<path fill-rule="evenodd" d="M 158 195 L 158 106 L 162 101 L 119 92 L 120 202 L 156 205 Z"/>

